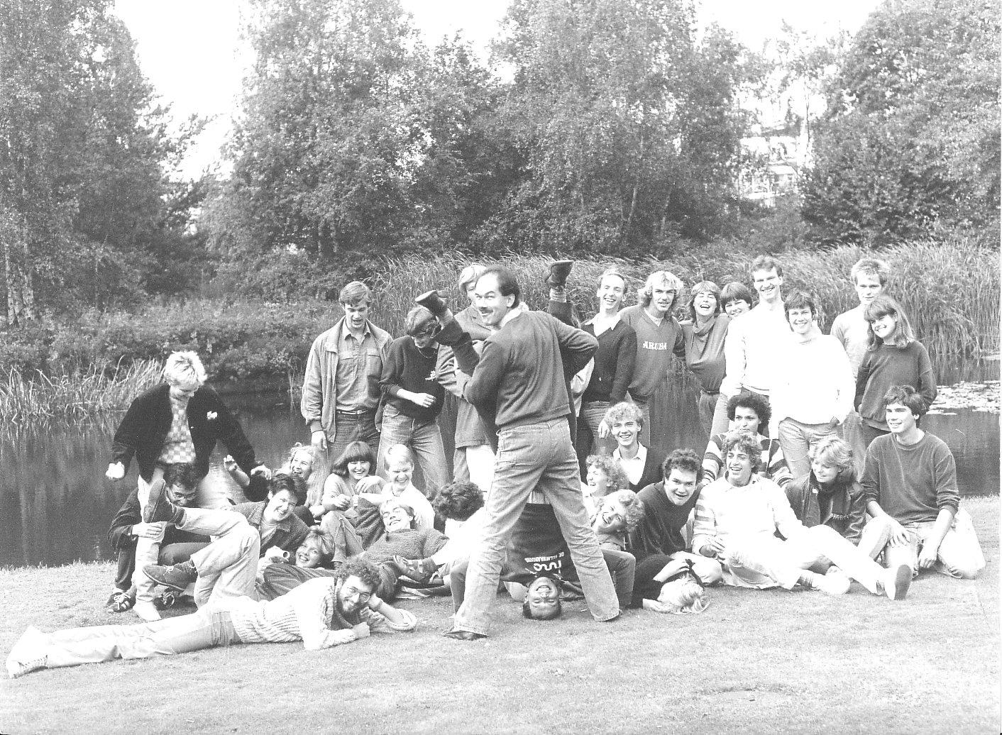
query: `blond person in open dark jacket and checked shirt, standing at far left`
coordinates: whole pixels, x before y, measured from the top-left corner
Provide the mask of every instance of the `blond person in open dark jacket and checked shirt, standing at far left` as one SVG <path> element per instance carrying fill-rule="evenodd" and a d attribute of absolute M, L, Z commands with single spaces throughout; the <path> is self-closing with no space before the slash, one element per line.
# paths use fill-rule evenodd
<path fill-rule="evenodd" d="M 163 368 L 164 382 L 135 399 L 115 431 L 111 462 L 105 476 L 111 481 L 125 477 L 134 457 L 139 466 L 137 490 L 139 505 L 145 509 L 149 489 L 163 480 L 166 466 L 177 463 L 194 465 L 198 480 L 196 505 L 209 505 L 204 487 L 208 460 L 221 441 L 240 469 L 248 475 L 270 477 L 268 468 L 255 459 L 254 448 L 243 436 L 239 423 L 229 413 L 218 395 L 204 386 L 205 369 L 191 351 L 173 352 Z M 162 526 L 139 524 L 136 536 L 136 587 L 133 611 L 143 620 L 159 620 L 153 607 L 153 585 L 142 574 L 146 564 L 156 564 Z"/>

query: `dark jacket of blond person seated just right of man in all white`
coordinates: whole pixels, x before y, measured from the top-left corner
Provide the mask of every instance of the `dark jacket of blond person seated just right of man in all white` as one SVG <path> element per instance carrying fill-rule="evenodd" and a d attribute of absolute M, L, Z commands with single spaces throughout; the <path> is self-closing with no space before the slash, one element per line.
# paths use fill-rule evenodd
<path fill-rule="evenodd" d="M 794 480 L 784 490 L 798 520 L 808 528 L 828 526 L 855 545 L 860 543 L 867 522 L 863 488 L 851 479 L 836 478 L 830 488 L 823 488 L 812 471 Z"/>

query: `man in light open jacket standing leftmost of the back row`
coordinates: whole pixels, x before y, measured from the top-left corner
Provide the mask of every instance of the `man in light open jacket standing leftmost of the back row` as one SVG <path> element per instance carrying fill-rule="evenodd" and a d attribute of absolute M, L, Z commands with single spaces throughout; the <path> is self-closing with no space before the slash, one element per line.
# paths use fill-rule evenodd
<path fill-rule="evenodd" d="M 300 402 L 311 444 L 332 458 L 356 441 L 379 447 L 379 380 L 393 340 L 369 320 L 372 291 L 365 283 L 353 280 L 338 300 L 345 315 L 314 339 Z"/>

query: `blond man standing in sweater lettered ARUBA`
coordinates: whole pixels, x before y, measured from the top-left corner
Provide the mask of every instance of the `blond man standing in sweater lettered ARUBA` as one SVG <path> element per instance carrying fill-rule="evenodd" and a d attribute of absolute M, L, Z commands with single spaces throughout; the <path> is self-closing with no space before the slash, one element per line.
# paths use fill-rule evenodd
<path fill-rule="evenodd" d="M 667 270 L 655 270 L 637 293 L 637 303 L 619 312 L 620 320 L 636 332 L 636 360 L 629 396 L 643 412 L 641 442 L 650 444 L 650 399 L 667 385 L 671 355 L 685 356 L 678 319 L 671 313 L 682 293 L 681 280 Z"/>

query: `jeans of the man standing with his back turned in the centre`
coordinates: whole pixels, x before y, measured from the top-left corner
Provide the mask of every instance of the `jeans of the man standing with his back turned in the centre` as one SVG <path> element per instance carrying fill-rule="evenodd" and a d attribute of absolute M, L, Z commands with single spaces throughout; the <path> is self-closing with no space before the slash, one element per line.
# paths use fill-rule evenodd
<path fill-rule="evenodd" d="M 486 499 L 484 534 L 470 557 L 466 599 L 456 612 L 455 627 L 486 635 L 491 602 L 512 529 L 533 490 L 553 506 L 571 561 L 577 569 L 588 610 L 595 620 L 619 615 L 612 578 L 584 510 L 577 458 L 566 417 L 498 432 L 494 484 Z"/>

